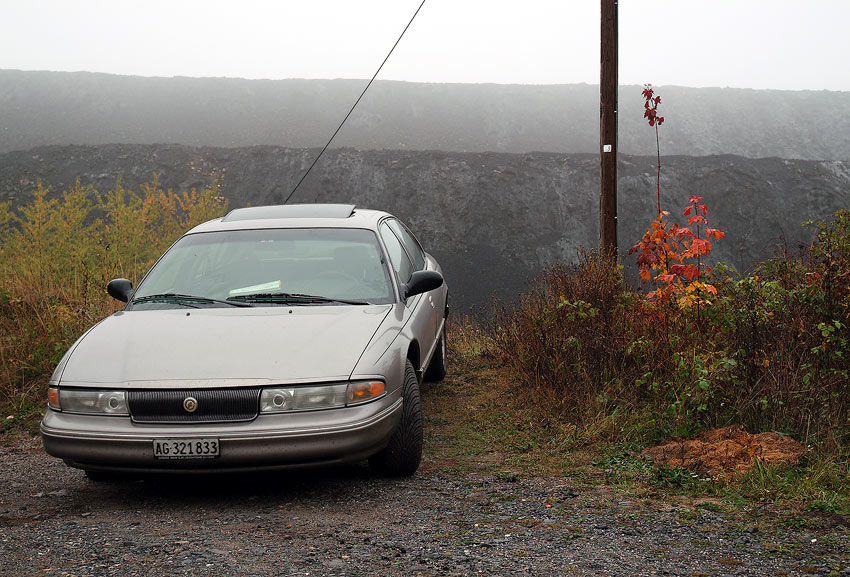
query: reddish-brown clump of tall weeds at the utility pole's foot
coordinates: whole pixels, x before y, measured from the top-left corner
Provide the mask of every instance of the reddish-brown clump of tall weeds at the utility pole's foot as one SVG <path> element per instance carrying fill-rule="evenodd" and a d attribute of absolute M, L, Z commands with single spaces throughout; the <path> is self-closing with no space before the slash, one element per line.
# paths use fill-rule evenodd
<path fill-rule="evenodd" d="M 627 300 L 617 259 L 581 253 L 544 271 L 515 306 L 497 307 L 494 348 L 553 411 L 605 404 L 608 384 L 630 365 Z"/>

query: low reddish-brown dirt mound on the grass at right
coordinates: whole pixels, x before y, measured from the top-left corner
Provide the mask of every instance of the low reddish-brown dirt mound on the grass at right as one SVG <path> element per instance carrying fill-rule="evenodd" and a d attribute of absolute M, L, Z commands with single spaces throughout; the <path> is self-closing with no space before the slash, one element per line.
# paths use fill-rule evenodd
<path fill-rule="evenodd" d="M 806 448 L 786 435 L 751 435 L 742 425 L 706 431 L 692 439 L 671 439 L 643 451 L 659 466 L 684 467 L 698 472 L 746 471 L 761 463 L 797 464 Z"/>

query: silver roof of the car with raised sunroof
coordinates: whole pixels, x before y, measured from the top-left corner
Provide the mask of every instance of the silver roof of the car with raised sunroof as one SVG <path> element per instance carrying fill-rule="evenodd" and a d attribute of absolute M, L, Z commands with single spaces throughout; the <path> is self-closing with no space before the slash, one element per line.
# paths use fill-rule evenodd
<path fill-rule="evenodd" d="M 186 234 L 259 228 L 376 229 L 388 213 L 353 204 L 280 204 L 237 208 L 222 218 L 199 224 Z"/>

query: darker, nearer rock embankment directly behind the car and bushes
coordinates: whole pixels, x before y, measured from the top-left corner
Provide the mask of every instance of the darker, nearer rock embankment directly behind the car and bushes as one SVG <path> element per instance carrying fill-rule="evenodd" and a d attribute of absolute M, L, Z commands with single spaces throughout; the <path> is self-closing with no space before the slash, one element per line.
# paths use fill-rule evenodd
<path fill-rule="evenodd" d="M 37 179 L 54 194 L 83 185 L 138 189 L 154 173 L 175 191 L 218 181 L 231 208 L 283 202 L 318 150 L 272 146 L 42 147 L 0 156 L 0 202 L 24 202 Z M 837 161 L 738 156 L 662 158 L 662 205 L 684 223 L 703 196 L 712 227 L 727 233 L 712 259 L 748 268 L 779 243 L 796 252 L 808 219 L 850 205 L 850 166 Z M 655 158 L 622 156 L 619 242 L 628 248 L 655 217 Z M 455 310 L 513 299 L 542 267 L 569 262 L 598 234 L 599 161 L 591 154 L 356 151 L 326 153 L 290 202 L 353 202 L 405 220 L 443 265 Z"/>

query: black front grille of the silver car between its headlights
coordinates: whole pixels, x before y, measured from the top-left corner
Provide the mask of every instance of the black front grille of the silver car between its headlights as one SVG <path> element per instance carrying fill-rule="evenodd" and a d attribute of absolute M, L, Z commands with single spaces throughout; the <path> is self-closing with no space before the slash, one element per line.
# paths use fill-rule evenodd
<path fill-rule="evenodd" d="M 193 412 L 184 406 L 189 397 Z M 232 423 L 257 417 L 260 388 L 128 391 L 127 402 L 137 423 Z"/>

